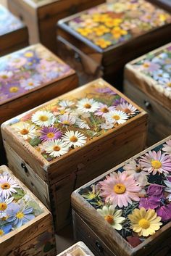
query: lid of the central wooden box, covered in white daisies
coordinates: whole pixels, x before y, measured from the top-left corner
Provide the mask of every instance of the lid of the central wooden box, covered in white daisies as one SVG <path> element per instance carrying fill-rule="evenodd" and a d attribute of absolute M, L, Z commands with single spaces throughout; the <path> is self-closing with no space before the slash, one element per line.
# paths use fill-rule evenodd
<path fill-rule="evenodd" d="M 17 154 L 46 180 L 47 173 L 58 178 L 69 175 L 75 159 L 84 162 L 84 154 L 96 157 L 100 153 L 94 149 L 102 141 L 138 120 L 146 122 L 146 112 L 98 79 L 8 120 L 1 131 Z"/>

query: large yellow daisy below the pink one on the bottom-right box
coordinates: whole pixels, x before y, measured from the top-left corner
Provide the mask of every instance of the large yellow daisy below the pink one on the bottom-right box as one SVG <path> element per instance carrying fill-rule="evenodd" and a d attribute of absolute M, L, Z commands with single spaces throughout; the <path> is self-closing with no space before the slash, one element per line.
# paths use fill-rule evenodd
<path fill-rule="evenodd" d="M 162 222 L 160 222 L 161 217 L 157 216 L 157 213 L 154 210 L 147 210 L 145 208 L 134 209 L 133 214 L 128 215 L 135 233 L 138 233 L 138 236 L 149 236 L 155 234 L 159 230 Z"/>

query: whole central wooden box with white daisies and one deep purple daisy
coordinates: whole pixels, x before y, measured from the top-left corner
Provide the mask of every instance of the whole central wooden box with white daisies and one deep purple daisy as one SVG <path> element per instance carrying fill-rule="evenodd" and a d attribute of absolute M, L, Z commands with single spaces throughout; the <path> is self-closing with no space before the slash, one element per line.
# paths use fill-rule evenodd
<path fill-rule="evenodd" d="M 8 120 L 1 131 L 10 168 L 51 209 L 58 230 L 70 221 L 72 191 L 140 152 L 146 125 L 146 112 L 99 79 Z"/>

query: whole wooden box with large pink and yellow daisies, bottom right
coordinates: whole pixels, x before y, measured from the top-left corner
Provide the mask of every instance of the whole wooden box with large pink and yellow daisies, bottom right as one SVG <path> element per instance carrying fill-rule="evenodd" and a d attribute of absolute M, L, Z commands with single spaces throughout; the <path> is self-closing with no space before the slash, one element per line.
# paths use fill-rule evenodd
<path fill-rule="evenodd" d="M 171 136 L 72 194 L 77 239 L 98 256 L 167 256 Z"/>

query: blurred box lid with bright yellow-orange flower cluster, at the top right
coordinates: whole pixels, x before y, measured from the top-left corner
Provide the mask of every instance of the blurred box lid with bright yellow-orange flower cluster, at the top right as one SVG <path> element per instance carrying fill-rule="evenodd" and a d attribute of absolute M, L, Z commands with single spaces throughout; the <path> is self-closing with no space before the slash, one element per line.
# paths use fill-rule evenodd
<path fill-rule="evenodd" d="M 149 33 L 171 25 L 171 16 L 162 9 L 144 0 L 114 0 L 112 3 L 59 20 L 59 36 L 67 38 L 86 54 L 103 55 L 103 65 L 117 61 L 121 56 L 138 51 L 140 43 Z M 159 36 L 159 35 L 158 35 Z M 71 41 L 72 40 L 72 41 Z M 150 41 L 146 38 L 146 42 Z M 129 49 L 128 49 L 128 43 Z M 123 46 L 127 45 L 123 49 Z M 142 47 L 142 45 L 141 45 Z M 145 47 L 145 46 L 143 46 Z M 114 55 L 112 55 L 112 53 Z M 106 63 L 106 64 L 105 64 Z"/>

